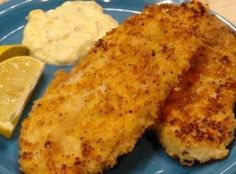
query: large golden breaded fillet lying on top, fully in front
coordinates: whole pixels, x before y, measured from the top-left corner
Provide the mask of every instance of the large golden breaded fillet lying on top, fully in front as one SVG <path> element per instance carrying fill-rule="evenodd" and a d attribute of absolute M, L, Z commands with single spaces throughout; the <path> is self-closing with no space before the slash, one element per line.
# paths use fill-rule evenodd
<path fill-rule="evenodd" d="M 198 50 L 200 7 L 146 7 L 57 72 L 22 124 L 21 170 L 100 173 L 130 152 Z"/>

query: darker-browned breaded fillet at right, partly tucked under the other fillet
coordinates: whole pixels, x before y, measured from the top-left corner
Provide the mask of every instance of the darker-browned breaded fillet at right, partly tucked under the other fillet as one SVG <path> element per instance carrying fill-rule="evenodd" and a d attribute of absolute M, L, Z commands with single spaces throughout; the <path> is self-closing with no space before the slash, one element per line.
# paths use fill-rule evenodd
<path fill-rule="evenodd" d="M 216 17 L 207 20 L 203 45 L 157 123 L 166 152 L 185 165 L 226 157 L 236 126 L 236 35 Z"/>

